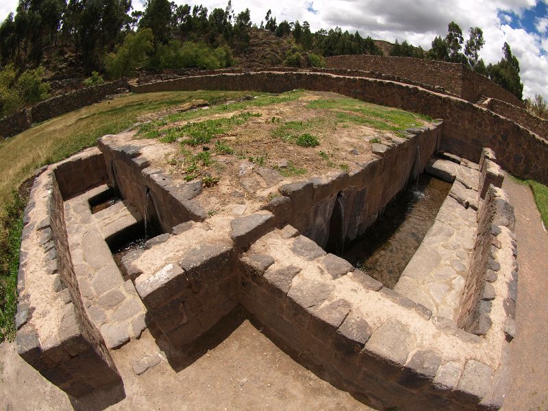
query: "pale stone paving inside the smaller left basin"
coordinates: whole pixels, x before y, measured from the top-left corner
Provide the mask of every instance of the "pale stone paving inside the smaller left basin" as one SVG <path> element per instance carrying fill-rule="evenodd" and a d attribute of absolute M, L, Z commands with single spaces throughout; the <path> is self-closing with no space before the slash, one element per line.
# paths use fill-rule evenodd
<path fill-rule="evenodd" d="M 142 217 L 136 210 L 125 208 L 121 201 L 91 214 L 88 200 L 106 189 L 106 185 L 99 186 L 66 201 L 64 212 L 84 307 L 107 347 L 115 349 L 140 336 L 146 328 L 146 310 L 132 281 L 124 282 L 105 236 L 141 221 Z"/>

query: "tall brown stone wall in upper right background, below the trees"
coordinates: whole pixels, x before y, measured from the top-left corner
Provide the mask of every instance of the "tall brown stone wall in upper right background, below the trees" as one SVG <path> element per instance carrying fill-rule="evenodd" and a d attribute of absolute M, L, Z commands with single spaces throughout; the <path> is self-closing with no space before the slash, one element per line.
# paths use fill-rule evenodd
<path fill-rule="evenodd" d="M 407 82 L 406 79 L 409 79 L 411 82 L 440 86 L 472 103 L 475 103 L 479 97 L 487 96 L 517 107 L 523 106 L 523 103 L 511 92 L 458 63 L 382 55 L 336 55 L 327 58 L 327 67 L 396 75 L 401 77 L 404 83 Z"/>

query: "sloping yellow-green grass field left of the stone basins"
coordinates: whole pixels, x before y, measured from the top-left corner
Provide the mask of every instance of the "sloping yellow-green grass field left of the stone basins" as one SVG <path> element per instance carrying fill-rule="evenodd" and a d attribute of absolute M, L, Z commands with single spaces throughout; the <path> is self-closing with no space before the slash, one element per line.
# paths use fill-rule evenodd
<path fill-rule="evenodd" d="M 26 201 L 18 197 L 16 190 L 25 179 L 40 166 L 95 146 L 97 138 L 105 134 L 127 129 L 142 114 L 195 99 L 215 104 L 249 94 L 249 91 L 193 91 L 121 95 L 55 117 L 0 142 L 0 341 L 13 338 L 15 332 L 21 216 Z"/>

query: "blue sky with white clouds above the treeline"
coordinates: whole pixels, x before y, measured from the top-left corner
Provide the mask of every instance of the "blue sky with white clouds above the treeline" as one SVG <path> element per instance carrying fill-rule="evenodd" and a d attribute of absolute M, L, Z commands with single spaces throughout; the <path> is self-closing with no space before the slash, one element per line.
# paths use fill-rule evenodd
<path fill-rule="evenodd" d="M 144 0 L 133 0 L 142 10 Z M 202 4 L 212 10 L 225 8 L 227 0 L 183 1 Z M 0 19 L 15 10 L 17 0 L 0 0 Z M 524 97 L 536 94 L 548 98 L 548 5 L 547 0 L 232 0 L 236 14 L 245 8 L 260 25 L 271 9 L 277 22 L 308 21 L 310 29 L 339 26 L 379 40 L 400 42 L 429 49 L 435 36 L 447 34 L 455 21 L 467 38 L 470 27 L 481 27 L 486 45 L 480 57 L 486 64 L 497 63 L 508 42 L 521 67 Z"/>

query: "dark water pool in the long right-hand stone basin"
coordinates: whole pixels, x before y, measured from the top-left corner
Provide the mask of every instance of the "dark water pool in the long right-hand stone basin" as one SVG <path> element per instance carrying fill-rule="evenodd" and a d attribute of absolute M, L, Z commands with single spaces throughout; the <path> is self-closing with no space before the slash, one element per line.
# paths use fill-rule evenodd
<path fill-rule="evenodd" d="M 367 231 L 353 240 L 341 257 L 388 288 L 434 224 L 451 184 L 426 174 L 401 192 Z"/>

